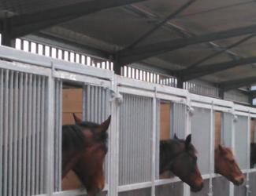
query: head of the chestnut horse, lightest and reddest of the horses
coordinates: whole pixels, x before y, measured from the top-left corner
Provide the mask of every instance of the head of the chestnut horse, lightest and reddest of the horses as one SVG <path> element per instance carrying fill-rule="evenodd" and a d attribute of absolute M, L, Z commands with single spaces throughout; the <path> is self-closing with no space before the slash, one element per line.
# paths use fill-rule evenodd
<path fill-rule="evenodd" d="M 221 144 L 215 149 L 214 172 L 221 174 L 221 176 L 224 176 L 236 186 L 245 183 L 245 176 L 239 169 L 231 149 Z"/>

